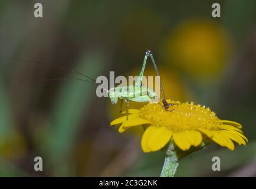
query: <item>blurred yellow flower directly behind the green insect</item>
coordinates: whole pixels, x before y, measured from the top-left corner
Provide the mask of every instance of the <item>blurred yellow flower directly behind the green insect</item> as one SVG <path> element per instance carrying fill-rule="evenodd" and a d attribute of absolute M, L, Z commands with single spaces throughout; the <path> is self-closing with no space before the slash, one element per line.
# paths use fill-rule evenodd
<path fill-rule="evenodd" d="M 152 64 L 152 63 L 149 61 L 148 64 Z M 141 68 L 138 67 L 135 70 L 128 72 L 126 75 L 127 82 L 128 82 L 128 76 L 137 76 L 140 72 L 140 69 Z M 165 69 L 159 69 L 159 73 L 162 80 L 162 85 L 164 87 L 165 96 L 168 99 L 184 101 L 186 99 L 185 90 L 180 79 L 178 79 L 178 76 L 172 71 L 168 71 Z M 144 76 L 153 76 L 153 87 L 155 87 L 155 76 L 156 76 L 155 70 L 153 68 L 150 68 L 149 66 L 146 66 Z M 108 112 L 109 112 L 110 119 L 116 119 L 120 117 L 120 113 L 119 113 L 120 102 L 121 100 L 119 100 L 119 102 L 115 106 L 112 105 L 111 103 L 108 103 Z M 146 104 L 147 103 L 130 101 L 129 109 L 139 109 L 140 107 L 143 107 Z M 126 110 L 125 102 L 123 103 L 122 109 L 123 111 Z M 131 131 L 132 133 L 139 133 L 139 134 L 143 133 L 143 129 L 140 127 L 132 128 L 129 131 Z"/>

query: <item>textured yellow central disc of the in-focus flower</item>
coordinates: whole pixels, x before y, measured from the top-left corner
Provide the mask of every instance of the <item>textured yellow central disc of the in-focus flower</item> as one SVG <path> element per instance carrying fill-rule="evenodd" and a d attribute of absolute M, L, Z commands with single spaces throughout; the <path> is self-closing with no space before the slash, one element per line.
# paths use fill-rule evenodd
<path fill-rule="evenodd" d="M 139 117 L 149 120 L 154 126 L 164 126 L 174 132 L 191 131 L 197 128 L 217 130 L 222 124 L 209 107 L 194 105 L 193 102 L 180 103 L 170 100 L 167 102 L 175 103 L 169 106 L 169 111 L 159 103 L 149 103 L 140 109 Z"/>

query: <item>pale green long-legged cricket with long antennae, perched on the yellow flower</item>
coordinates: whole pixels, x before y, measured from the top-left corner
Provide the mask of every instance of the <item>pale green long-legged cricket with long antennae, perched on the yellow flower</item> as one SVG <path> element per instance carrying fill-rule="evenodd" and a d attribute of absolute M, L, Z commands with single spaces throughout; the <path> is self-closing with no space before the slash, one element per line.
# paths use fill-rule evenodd
<path fill-rule="evenodd" d="M 152 89 L 144 86 L 142 84 L 142 79 L 143 79 L 143 73 L 145 70 L 146 66 L 146 61 L 148 57 L 151 57 L 153 67 L 156 71 L 156 75 L 158 76 L 160 87 L 161 87 L 161 92 L 162 92 L 162 104 L 165 110 L 169 110 L 169 106 L 171 106 L 171 103 L 167 103 L 165 100 L 165 94 L 164 94 L 164 89 L 162 87 L 162 82 L 159 77 L 159 71 L 156 67 L 155 60 L 153 58 L 153 54 L 151 53 L 150 50 L 145 51 L 145 57 L 143 60 L 142 64 L 142 70 L 140 71 L 139 76 L 137 76 L 137 79 L 135 81 L 135 84 L 129 85 L 129 86 L 123 86 L 123 87 L 112 87 L 110 90 L 103 89 L 108 93 L 108 97 L 110 97 L 110 102 L 113 105 L 116 105 L 118 102 L 118 99 L 121 99 L 121 104 L 120 104 L 120 109 L 119 111 L 121 112 L 123 102 L 126 102 L 126 118 L 128 119 L 129 115 L 129 102 L 134 101 L 134 102 L 150 102 L 153 99 L 156 99 L 157 94 L 155 91 Z M 53 80 L 80 80 L 88 83 L 95 84 L 96 86 L 100 86 L 101 83 L 97 83 L 94 79 L 91 77 L 85 75 L 84 73 L 81 73 L 76 70 L 68 69 L 66 67 L 61 67 L 61 66 L 55 66 L 53 64 L 47 64 L 47 63 L 42 63 L 40 61 L 32 61 L 32 60 L 23 60 L 20 58 L 11 58 L 11 57 L 2 57 L 2 58 L 8 58 L 10 60 L 15 60 L 15 61 L 26 61 L 26 62 L 31 62 L 31 63 L 36 63 L 36 64 L 43 64 L 46 66 L 50 67 L 55 67 L 56 69 L 61 69 L 61 70 L 66 70 L 66 71 L 71 71 L 72 73 L 84 76 L 86 79 L 77 79 L 77 78 L 52 78 L 52 79 L 45 79 L 46 81 L 53 81 Z"/>

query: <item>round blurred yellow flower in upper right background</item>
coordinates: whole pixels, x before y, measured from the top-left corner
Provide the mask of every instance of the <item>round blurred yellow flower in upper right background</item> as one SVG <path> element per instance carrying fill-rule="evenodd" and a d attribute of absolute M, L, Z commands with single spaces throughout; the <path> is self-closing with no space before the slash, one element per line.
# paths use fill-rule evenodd
<path fill-rule="evenodd" d="M 169 33 L 164 45 L 165 63 L 195 78 L 217 76 L 231 53 L 231 40 L 221 25 L 188 20 Z"/>

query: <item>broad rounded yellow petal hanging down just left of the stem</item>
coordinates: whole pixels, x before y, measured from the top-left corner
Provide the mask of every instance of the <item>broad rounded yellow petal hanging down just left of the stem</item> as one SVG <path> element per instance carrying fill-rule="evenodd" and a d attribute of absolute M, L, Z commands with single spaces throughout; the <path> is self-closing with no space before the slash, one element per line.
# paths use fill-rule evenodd
<path fill-rule="evenodd" d="M 165 127 L 156 128 L 155 131 L 151 132 L 148 136 L 146 145 L 154 152 L 163 148 L 171 139 L 173 132 Z"/>

